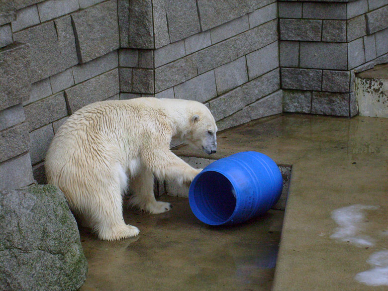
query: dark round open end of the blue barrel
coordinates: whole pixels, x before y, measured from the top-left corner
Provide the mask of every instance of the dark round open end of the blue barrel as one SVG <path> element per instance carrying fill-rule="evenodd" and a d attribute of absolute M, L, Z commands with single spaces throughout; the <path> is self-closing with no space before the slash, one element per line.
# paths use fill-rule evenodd
<path fill-rule="evenodd" d="M 230 181 L 214 171 L 202 172 L 194 185 L 194 200 L 210 225 L 224 223 L 236 207 L 236 192 Z"/>

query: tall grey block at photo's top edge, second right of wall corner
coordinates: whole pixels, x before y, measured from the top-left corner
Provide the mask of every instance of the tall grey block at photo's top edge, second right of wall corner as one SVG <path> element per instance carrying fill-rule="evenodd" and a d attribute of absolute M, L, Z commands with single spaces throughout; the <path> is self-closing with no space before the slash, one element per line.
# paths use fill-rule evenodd
<path fill-rule="evenodd" d="M 195 0 L 167 0 L 166 13 L 171 42 L 201 31 Z"/>

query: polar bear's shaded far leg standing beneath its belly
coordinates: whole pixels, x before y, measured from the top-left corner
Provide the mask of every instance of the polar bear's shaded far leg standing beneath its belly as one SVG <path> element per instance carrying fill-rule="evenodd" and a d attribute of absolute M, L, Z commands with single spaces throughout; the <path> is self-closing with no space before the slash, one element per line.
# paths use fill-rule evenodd
<path fill-rule="evenodd" d="M 137 205 L 141 210 L 151 214 L 158 214 L 171 209 L 170 203 L 156 201 L 154 195 L 154 176 L 151 171 L 142 168 L 132 178 L 130 188 L 134 194 L 129 202 L 132 205 Z"/>

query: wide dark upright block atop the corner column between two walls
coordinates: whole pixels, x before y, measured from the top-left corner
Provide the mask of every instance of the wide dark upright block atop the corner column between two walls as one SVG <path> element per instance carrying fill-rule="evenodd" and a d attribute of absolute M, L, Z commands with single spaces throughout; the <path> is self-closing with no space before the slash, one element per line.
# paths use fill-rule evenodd
<path fill-rule="evenodd" d="M 154 48 L 152 1 L 129 1 L 129 47 Z"/>

